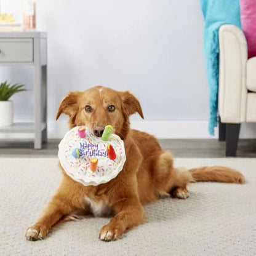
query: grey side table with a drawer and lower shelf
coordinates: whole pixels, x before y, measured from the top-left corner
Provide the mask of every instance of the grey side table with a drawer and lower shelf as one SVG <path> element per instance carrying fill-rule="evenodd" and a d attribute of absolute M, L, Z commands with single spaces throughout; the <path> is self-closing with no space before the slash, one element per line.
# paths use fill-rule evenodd
<path fill-rule="evenodd" d="M 34 133 L 34 148 L 47 140 L 47 34 L 39 31 L 0 32 L 0 66 L 34 66 L 34 122 L 1 127 L 2 133 Z"/>

